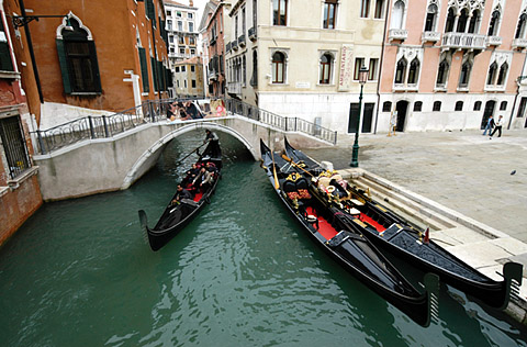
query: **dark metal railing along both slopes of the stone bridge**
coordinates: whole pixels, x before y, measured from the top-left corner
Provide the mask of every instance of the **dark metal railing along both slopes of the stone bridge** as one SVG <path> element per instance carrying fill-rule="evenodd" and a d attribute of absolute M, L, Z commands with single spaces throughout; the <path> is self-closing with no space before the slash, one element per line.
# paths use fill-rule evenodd
<path fill-rule="evenodd" d="M 171 114 L 176 101 L 197 100 L 201 97 L 179 96 L 175 99 L 148 100 L 141 107 L 111 115 L 89 115 L 31 135 L 36 139 L 35 152 L 49 154 L 86 139 L 108 138 L 143 124 L 165 121 Z M 301 132 L 329 143 L 337 143 L 337 132 L 299 117 L 285 117 L 261 110 L 248 103 L 224 99 L 225 108 L 232 113 L 278 127 L 285 132 Z"/>

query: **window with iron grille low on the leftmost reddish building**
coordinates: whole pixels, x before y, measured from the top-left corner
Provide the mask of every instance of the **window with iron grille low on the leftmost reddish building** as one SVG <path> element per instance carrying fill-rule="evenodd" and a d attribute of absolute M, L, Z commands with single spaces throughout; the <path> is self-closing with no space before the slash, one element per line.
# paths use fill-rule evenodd
<path fill-rule="evenodd" d="M 11 179 L 15 179 L 31 167 L 24 133 L 18 115 L 0 119 L 0 138 L 8 161 L 9 176 Z"/>

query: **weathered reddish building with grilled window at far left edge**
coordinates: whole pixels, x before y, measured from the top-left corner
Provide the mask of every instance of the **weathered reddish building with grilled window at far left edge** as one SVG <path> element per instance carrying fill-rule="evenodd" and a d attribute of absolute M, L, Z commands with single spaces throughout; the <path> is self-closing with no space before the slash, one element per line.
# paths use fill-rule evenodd
<path fill-rule="evenodd" d="M 4 4 L 0 0 L 0 245 L 42 205 L 19 69 L 30 57 L 19 61 L 13 54 L 12 8 Z"/>

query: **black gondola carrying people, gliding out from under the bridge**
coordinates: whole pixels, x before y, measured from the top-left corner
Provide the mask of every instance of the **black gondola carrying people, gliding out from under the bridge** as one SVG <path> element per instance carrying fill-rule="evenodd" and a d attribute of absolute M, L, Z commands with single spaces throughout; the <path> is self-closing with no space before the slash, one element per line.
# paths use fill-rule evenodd
<path fill-rule="evenodd" d="M 178 195 L 176 192 L 162 212 L 156 226 L 149 228 L 145 211 L 138 211 L 141 226 L 148 237 L 152 250 L 159 250 L 165 246 L 200 213 L 206 203 L 211 201 L 211 197 L 216 190 L 217 182 L 220 181 L 222 170 L 222 150 L 217 141 L 212 141 L 208 144 L 205 150 L 203 150 L 203 154 L 201 154 L 195 164 L 198 167 L 205 167 L 209 163 L 217 169 L 217 172 L 214 174 L 212 183 L 208 184 L 205 188 L 199 188 L 192 184 L 191 177 L 184 177 L 180 184 L 181 187 L 193 191 L 193 199 L 181 199 L 179 202 L 175 202 Z"/>

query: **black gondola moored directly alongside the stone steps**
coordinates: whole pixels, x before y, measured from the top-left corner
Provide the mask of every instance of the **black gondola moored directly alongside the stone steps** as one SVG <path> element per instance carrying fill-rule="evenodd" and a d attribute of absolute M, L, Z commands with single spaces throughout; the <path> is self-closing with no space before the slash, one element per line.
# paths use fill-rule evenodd
<path fill-rule="evenodd" d="M 503 310 L 511 296 L 518 295 L 523 272 L 520 264 L 506 262 L 503 267 L 504 280 L 495 281 L 429 239 L 428 231 L 405 221 L 371 199 L 365 190 L 339 183 L 338 175 L 332 178 L 332 172 L 294 149 L 287 139 L 285 157 L 293 161 L 291 164 L 299 172 L 316 177 L 319 181 L 314 190 L 317 199 L 344 212 L 346 225 L 363 233 L 379 248 L 404 258 L 423 271 L 438 275 L 442 282 L 489 306 Z M 324 180 L 329 182 L 328 187 L 323 184 L 321 177 L 326 177 Z"/>

